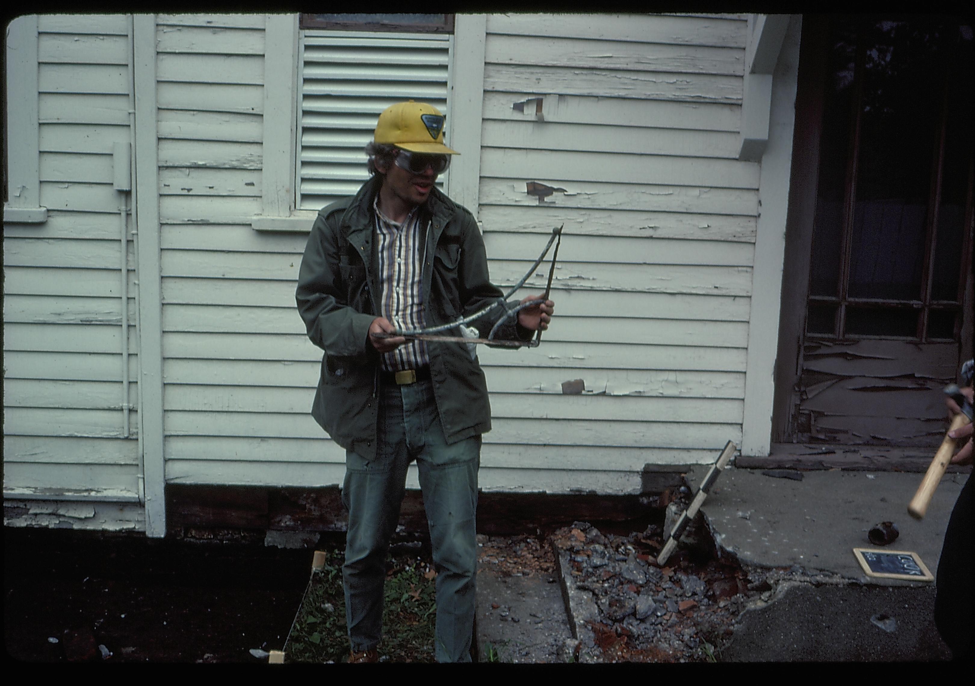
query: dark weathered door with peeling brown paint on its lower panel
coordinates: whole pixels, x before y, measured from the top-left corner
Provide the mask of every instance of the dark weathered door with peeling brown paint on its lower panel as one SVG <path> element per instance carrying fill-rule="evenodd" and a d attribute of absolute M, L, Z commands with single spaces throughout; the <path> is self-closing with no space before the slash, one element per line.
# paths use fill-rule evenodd
<path fill-rule="evenodd" d="M 966 316 L 971 26 L 837 17 L 820 36 L 828 44 L 791 438 L 937 444 Z"/>

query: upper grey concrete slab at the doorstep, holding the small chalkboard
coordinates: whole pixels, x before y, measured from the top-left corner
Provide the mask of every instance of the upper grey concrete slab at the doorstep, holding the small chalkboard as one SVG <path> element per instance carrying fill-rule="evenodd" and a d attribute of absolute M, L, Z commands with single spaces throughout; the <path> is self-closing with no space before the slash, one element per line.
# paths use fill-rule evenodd
<path fill-rule="evenodd" d="M 692 468 L 688 485 L 695 487 L 707 469 Z M 872 547 L 870 527 L 893 521 L 900 528 L 895 548 L 917 553 L 936 574 L 948 519 L 966 478 L 946 475 L 927 515 L 918 521 L 907 512 L 920 482 L 916 474 L 806 472 L 796 481 L 728 469 L 701 511 L 723 551 L 743 563 L 799 565 L 864 584 L 902 586 L 912 582 L 867 577 L 853 548 Z"/>

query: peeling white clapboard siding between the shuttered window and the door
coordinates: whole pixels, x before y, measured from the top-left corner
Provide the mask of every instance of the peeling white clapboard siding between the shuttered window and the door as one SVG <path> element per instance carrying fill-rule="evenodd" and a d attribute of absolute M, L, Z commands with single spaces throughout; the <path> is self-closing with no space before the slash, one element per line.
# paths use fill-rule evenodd
<path fill-rule="evenodd" d="M 710 462 L 740 440 L 760 173 L 737 159 L 745 28 L 488 16 L 478 218 L 492 280 L 514 284 L 564 233 L 541 346 L 479 351 L 487 488 L 632 490 L 644 464 Z M 548 274 L 546 261 L 516 297 Z M 576 379 L 582 395 L 562 395 Z"/>

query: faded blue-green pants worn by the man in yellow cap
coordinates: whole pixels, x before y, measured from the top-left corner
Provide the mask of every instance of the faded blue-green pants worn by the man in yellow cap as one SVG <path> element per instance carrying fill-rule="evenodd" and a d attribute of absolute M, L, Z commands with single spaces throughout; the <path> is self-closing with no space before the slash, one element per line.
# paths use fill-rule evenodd
<path fill-rule="evenodd" d="M 345 616 L 352 650 L 375 648 L 382 632 L 382 593 L 389 540 L 416 460 L 437 569 L 438 662 L 470 662 L 477 569 L 476 514 L 481 437 L 447 443 L 430 381 L 384 386 L 376 456 L 345 457 L 342 502 Z"/>

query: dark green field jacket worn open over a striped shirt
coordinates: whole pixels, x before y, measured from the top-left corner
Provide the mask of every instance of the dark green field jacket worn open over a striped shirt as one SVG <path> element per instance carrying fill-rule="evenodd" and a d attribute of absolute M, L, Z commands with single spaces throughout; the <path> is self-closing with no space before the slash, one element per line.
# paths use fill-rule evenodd
<path fill-rule="evenodd" d="M 369 341 L 370 324 L 380 316 L 372 201 L 381 180 L 375 175 L 354 197 L 319 211 L 295 292 L 308 338 L 325 351 L 312 416 L 336 443 L 369 460 L 375 457 L 380 367 Z M 503 293 L 488 279 L 484 241 L 471 213 L 436 189 L 421 210 L 427 326 L 456 322 L 500 298 Z M 468 325 L 487 336 L 502 314 L 497 307 Z M 457 328 L 445 333 L 460 335 Z M 514 319 L 495 333 L 522 340 L 531 335 Z M 478 360 L 459 343 L 428 343 L 427 352 L 448 443 L 489 431 L 487 383 Z"/>

